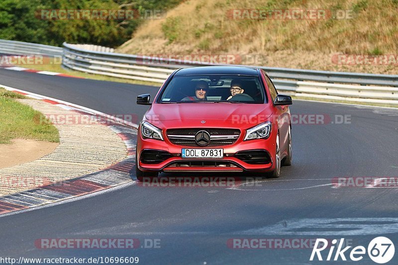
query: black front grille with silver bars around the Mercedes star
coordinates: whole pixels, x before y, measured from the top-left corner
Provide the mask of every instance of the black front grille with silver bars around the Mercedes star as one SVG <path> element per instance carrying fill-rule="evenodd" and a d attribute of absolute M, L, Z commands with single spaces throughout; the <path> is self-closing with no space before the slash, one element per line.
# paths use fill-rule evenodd
<path fill-rule="evenodd" d="M 167 138 L 175 145 L 203 147 L 195 141 L 195 135 L 199 131 L 206 131 L 210 134 L 210 142 L 205 147 L 217 147 L 234 144 L 240 135 L 238 129 L 219 129 L 219 128 L 186 128 L 169 129 L 166 131 Z"/>

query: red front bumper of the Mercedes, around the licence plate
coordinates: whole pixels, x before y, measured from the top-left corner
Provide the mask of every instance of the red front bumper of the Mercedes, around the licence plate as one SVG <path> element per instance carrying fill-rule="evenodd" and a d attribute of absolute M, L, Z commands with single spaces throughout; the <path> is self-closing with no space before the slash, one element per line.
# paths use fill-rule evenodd
<path fill-rule="evenodd" d="M 182 149 L 195 147 L 174 145 L 167 138 L 165 138 L 165 141 L 143 139 L 141 134 L 138 133 L 137 166 L 141 171 L 159 172 L 269 172 L 274 170 L 275 137 L 271 133 L 268 139 L 243 141 L 241 135 L 233 145 L 216 147 L 224 150 L 222 159 L 183 159 L 181 158 Z M 264 159 L 264 163 L 247 163 L 245 153 L 243 153 L 243 156 L 239 156 L 239 154 L 248 150 L 262 152 L 267 154 L 268 158 Z M 148 151 L 154 153 L 159 151 L 159 160 L 148 163 L 148 160 L 145 160 L 148 157 Z"/>

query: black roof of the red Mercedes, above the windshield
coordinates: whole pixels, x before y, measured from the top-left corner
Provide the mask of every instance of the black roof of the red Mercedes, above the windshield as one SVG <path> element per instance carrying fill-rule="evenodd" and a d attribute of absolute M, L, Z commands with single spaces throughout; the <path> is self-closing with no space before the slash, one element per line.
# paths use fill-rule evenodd
<path fill-rule="evenodd" d="M 241 66 L 199 66 L 180 69 L 175 76 L 185 75 L 244 75 L 257 76 L 257 69 Z"/>

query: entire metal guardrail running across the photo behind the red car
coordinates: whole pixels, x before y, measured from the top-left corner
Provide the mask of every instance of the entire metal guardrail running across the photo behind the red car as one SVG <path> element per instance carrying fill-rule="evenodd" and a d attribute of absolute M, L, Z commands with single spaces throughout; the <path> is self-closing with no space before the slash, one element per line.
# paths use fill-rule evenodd
<path fill-rule="evenodd" d="M 214 64 L 114 53 L 96 45 L 63 43 L 63 48 L 0 40 L 0 53 L 60 55 L 63 66 L 91 74 L 163 83 L 176 69 Z M 156 63 L 155 63 L 156 62 Z M 224 65 L 227 66 L 227 65 Z M 253 67 L 253 66 L 248 66 Z M 398 106 L 398 75 L 375 75 L 258 67 L 278 90 L 302 98 Z"/>

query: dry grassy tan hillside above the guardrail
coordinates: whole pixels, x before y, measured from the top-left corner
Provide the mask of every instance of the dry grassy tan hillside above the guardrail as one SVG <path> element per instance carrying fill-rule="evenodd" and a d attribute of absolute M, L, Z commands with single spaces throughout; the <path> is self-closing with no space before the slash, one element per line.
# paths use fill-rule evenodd
<path fill-rule="evenodd" d="M 291 19 L 295 9 L 316 15 Z M 271 67 L 398 74 L 397 10 L 398 0 L 188 0 L 146 21 L 118 51 L 238 55 L 238 63 L 256 58 Z M 344 54 L 351 56 L 338 56 Z"/>

